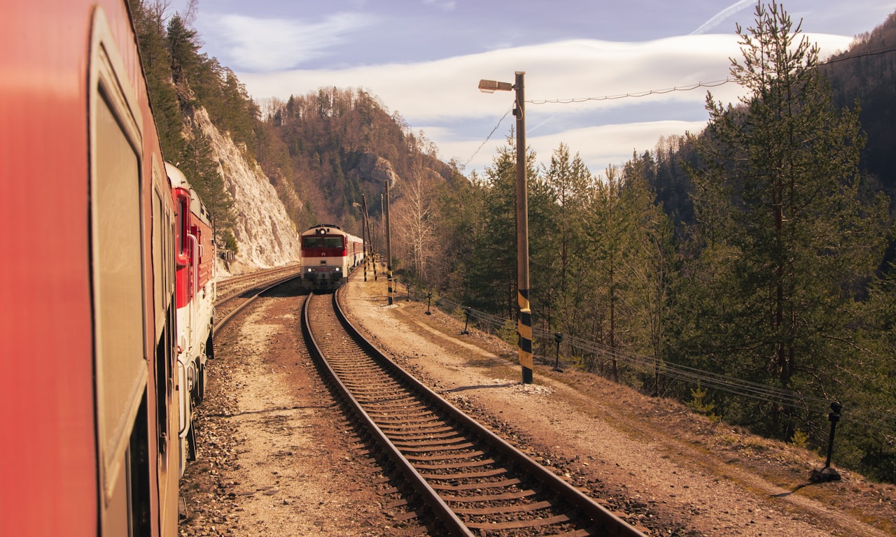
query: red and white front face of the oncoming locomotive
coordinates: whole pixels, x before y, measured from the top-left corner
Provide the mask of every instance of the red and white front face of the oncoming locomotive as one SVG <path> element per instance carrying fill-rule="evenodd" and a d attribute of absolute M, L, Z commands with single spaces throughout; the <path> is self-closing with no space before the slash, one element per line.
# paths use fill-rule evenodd
<path fill-rule="evenodd" d="M 302 235 L 302 286 L 334 289 L 347 277 L 348 255 L 345 234 L 318 228 Z"/>

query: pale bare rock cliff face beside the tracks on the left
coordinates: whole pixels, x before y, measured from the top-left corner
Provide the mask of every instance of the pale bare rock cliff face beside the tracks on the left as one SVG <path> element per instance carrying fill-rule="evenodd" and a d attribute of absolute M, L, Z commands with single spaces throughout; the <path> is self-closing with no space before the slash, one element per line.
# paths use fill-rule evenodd
<path fill-rule="evenodd" d="M 219 274 L 238 274 L 297 261 L 296 226 L 262 168 L 246 161 L 243 151 L 230 137 L 211 124 L 204 108 L 196 109 L 194 122 L 211 141 L 220 174 L 233 196 L 237 217 L 233 227 L 239 248 L 237 259 L 229 263 L 221 261 Z"/>

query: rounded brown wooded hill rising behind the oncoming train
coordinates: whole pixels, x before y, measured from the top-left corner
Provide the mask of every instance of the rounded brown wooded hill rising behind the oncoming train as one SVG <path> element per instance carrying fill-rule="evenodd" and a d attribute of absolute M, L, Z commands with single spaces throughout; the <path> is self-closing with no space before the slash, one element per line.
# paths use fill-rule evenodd
<path fill-rule="evenodd" d="M 268 175 L 302 192 L 304 210 L 294 217 L 301 229 L 332 222 L 360 235 L 361 214 L 353 204 L 362 194 L 376 219 L 385 181 L 402 192 L 406 182 L 452 180 L 451 167 L 435 158 L 422 133 L 411 132 L 365 90 L 327 88 L 274 99 L 259 132 L 266 142 L 259 162 Z"/>

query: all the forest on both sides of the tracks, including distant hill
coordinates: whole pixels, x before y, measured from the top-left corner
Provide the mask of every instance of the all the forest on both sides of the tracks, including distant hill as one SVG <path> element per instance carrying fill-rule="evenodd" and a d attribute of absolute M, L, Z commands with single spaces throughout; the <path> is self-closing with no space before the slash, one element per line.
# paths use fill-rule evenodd
<path fill-rule="evenodd" d="M 365 90 L 260 106 L 199 53 L 189 10 L 131 7 L 164 154 L 201 187 L 220 241 L 233 200 L 196 107 L 263 166 L 299 229 L 360 235 L 355 204 L 381 222 L 385 177 L 402 280 L 513 326 L 513 132 L 467 176 Z M 830 59 L 780 5 L 754 17 L 730 64 L 745 97 L 707 95 L 703 132 L 599 171 L 566 144 L 526 148 L 533 327 L 564 334 L 567 363 L 820 453 L 839 404 L 835 465 L 896 482 L 896 14 Z"/>

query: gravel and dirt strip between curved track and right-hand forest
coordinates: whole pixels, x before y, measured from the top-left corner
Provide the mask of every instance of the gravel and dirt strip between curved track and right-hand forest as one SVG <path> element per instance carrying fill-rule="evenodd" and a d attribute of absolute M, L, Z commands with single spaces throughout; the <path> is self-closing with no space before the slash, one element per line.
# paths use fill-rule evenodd
<path fill-rule="evenodd" d="M 893 485 L 843 470 L 840 482 L 810 483 L 817 453 L 553 362 L 521 384 L 515 348 L 462 335 L 462 316 L 426 315 L 426 303 L 402 297 L 386 306 L 384 282 L 349 286 L 349 315 L 375 345 L 637 524 L 678 535 L 896 534 Z"/>

